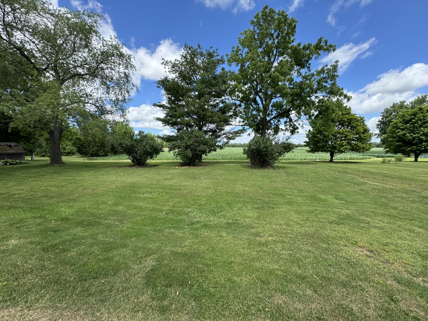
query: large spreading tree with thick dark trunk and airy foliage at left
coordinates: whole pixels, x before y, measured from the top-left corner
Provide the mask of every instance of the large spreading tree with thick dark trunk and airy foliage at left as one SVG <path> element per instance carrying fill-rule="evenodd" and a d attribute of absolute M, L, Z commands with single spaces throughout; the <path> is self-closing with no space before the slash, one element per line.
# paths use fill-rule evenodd
<path fill-rule="evenodd" d="M 25 104 L 15 104 L 16 126 L 47 131 L 51 164 L 61 164 L 62 132 L 77 119 L 124 115 L 132 57 L 116 37 L 99 32 L 101 15 L 56 8 L 43 0 L 0 0 L 1 47 L 19 55 L 41 83 Z"/>

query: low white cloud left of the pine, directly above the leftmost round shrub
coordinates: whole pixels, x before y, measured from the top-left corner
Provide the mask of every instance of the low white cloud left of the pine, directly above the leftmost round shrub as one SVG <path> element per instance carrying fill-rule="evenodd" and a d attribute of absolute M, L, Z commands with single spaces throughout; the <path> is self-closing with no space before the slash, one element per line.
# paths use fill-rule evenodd
<path fill-rule="evenodd" d="M 148 104 L 128 108 L 128 119 L 134 128 L 166 129 L 167 127 L 154 119 L 163 116 L 162 110 Z"/>

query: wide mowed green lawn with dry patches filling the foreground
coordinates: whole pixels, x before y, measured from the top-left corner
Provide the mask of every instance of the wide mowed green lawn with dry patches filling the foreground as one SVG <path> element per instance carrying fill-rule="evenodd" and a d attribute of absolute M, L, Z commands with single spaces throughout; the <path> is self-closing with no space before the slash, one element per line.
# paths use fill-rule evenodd
<path fill-rule="evenodd" d="M 1 320 L 426 320 L 428 162 L 0 168 Z"/>

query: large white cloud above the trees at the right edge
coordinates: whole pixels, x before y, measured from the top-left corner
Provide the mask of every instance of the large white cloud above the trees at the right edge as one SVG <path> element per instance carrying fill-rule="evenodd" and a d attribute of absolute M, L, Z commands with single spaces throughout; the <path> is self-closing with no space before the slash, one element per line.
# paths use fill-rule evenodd
<path fill-rule="evenodd" d="M 403 70 L 392 69 L 377 78 L 356 92 L 347 92 L 352 96 L 349 105 L 355 113 L 375 113 L 394 102 L 413 100 L 418 89 L 428 86 L 428 65 L 415 63 Z"/>

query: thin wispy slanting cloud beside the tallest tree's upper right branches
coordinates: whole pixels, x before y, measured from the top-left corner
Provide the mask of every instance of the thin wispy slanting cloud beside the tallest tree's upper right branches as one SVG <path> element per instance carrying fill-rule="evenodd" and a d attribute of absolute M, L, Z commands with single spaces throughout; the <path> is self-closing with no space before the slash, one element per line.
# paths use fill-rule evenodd
<path fill-rule="evenodd" d="M 354 45 L 352 42 L 345 44 L 328 56 L 322 58 L 320 62 L 331 64 L 339 60 L 339 73 L 342 73 L 358 56 L 360 56 L 360 58 L 365 58 L 371 55 L 372 52 L 369 51 L 369 48 L 376 43 L 377 40 L 373 37 L 366 42 L 360 42 L 358 45 Z"/>

